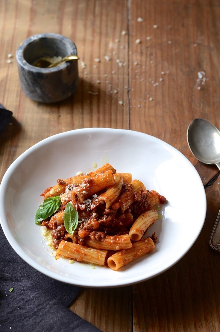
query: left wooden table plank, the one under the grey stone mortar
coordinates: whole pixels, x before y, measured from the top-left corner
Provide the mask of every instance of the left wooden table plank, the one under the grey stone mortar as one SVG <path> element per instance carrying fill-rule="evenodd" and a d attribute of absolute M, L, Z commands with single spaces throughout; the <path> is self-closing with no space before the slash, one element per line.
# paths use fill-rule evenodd
<path fill-rule="evenodd" d="M 83 127 L 129 128 L 128 35 L 121 35 L 127 30 L 126 0 L 2 3 L 0 47 L 4 56 L 0 58 L 0 101 L 13 111 L 14 120 L 1 135 L 1 177 L 23 151 L 50 135 Z M 20 90 L 16 62 L 6 63 L 9 52 L 15 59 L 15 51 L 23 40 L 44 32 L 69 37 L 80 56 L 77 92 L 54 105 L 27 98 Z M 100 58 L 100 62 L 95 62 L 95 58 Z M 121 67 L 117 59 L 123 64 Z M 81 68 L 81 60 L 85 69 Z M 124 105 L 118 103 L 120 100 Z M 130 287 L 85 289 L 71 310 L 103 331 L 131 331 L 131 305 Z"/>

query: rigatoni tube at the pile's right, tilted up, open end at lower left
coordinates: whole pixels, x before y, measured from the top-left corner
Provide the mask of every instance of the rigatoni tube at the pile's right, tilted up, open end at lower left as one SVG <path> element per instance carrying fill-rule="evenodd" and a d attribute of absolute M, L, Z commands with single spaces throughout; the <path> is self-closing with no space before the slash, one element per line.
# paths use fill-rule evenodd
<path fill-rule="evenodd" d="M 150 210 L 142 213 L 131 226 L 129 237 L 132 241 L 139 241 L 144 232 L 158 219 L 156 210 Z"/>

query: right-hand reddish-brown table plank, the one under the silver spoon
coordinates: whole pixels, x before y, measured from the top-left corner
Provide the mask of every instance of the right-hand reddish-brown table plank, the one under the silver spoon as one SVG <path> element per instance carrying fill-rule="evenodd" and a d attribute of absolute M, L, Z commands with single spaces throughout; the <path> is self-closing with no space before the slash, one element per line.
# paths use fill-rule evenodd
<path fill-rule="evenodd" d="M 162 138 L 184 153 L 205 184 L 217 169 L 192 156 L 186 129 L 194 118 L 220 127 L 215 102 L 219 100 L 219 3 L 138 0 L 131 2 L 129 12 L 131 128 Z M 138 17 L 144 22 L 137 22 Z M 137 38 L 140 44 L 135 43 Z M 197 82 L 199 71 L 206 73 L 204 85 Z M 207 217 L 191 250 L 167 272 L 133 286 L 135 332 L 219 330 L 218 254 L 208 244 L 219 208 L 218 182 L 206 190 Z"/>

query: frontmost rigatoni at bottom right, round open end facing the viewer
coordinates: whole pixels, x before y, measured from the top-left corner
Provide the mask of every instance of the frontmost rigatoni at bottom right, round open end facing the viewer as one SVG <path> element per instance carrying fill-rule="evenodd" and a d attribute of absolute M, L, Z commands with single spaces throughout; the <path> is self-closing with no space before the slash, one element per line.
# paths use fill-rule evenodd
<path fill-rule="evenodd" d="M 114 255 L 110 256 L 107 260 L 110 269 L 116 271 L 122 266 L 130 263 L 134 259 L 150 253 L 155 248 L 153 240 L 148 237 L 138 242 L 133 243 L 132 248 L 127 250 L 120 250 Z"/>

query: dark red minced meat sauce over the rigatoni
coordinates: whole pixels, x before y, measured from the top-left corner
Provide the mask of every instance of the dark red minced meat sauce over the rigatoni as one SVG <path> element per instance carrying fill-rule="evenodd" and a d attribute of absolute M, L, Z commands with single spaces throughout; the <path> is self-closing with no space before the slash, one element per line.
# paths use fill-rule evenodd
<path fill-rule="evenodd" d="M 90 184 L 91 182 L 88 179 L 87 183 Z M 65 182 L 58 179 L 57 183 L 63 185 Z M 79 214 L 78 228 L 74 232 L 75 243 L 83 245 L 88 237 L 95 241 L 104 239 L 106 235 L 123 235 L 129 233 L 133 221 L 151 208 L 149 201 L 150 191 L 144 189 L 138 193 L 134 193 L 132 185 L 123 183 L 120 195 L 123 193 L 126 193 L 124 197 L 129 197 L 129 200 L 132 200 L 132 204 L 125 210 L 123 210 L 124 206 L 122 206 L 120 201 L 117 202 L 117 200 L 112 204 L 111 208 L 106 209 L 105 202 L 98 202 L 97 197 L 100 193 L 92 195 L 83 203 L 79 202 L 78 196 L 74 193 L 68 196 L 71 197 L 71 203 Z M 165 197 L 159 194 L 158 196 L 159 203 L 164 204 L 166 201 Z M 68 200 L 64 200 L 59 211 L 65 210 L 67 203 Z M 58 248 L 59 243 L 65 239 L 65 235 L 67 234 L 64 224 L 57 225 L 55 216 L 52 215 L 47 220 L 42 221 L 42 225 L 52 229 L 53 245 L 55 248 Z M 154 242 L 157 241 L 155 233 L 151 238 Z M 70 238 L 66 240 L 72 241 Z"/>

